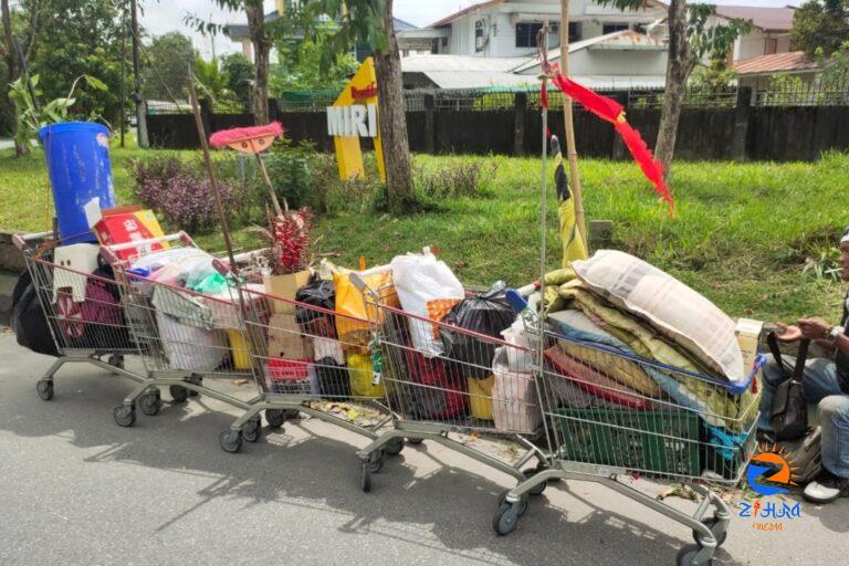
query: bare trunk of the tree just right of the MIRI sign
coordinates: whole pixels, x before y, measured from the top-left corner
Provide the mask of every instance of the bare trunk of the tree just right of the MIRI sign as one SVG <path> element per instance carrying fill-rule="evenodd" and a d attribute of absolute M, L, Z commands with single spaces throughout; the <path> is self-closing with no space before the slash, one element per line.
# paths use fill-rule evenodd
<path fill-rule="evenodd" d="M 402 211 L 412 203 L 412 169 L 407 139 L 407 116 L 403 108 L 401 57 L 392 22 L 392 0 L 386 0 L 384 11 L 386 50 L 375 52 L 380 139 L 386 163 L 386 192 L 389 207 Z"/>

